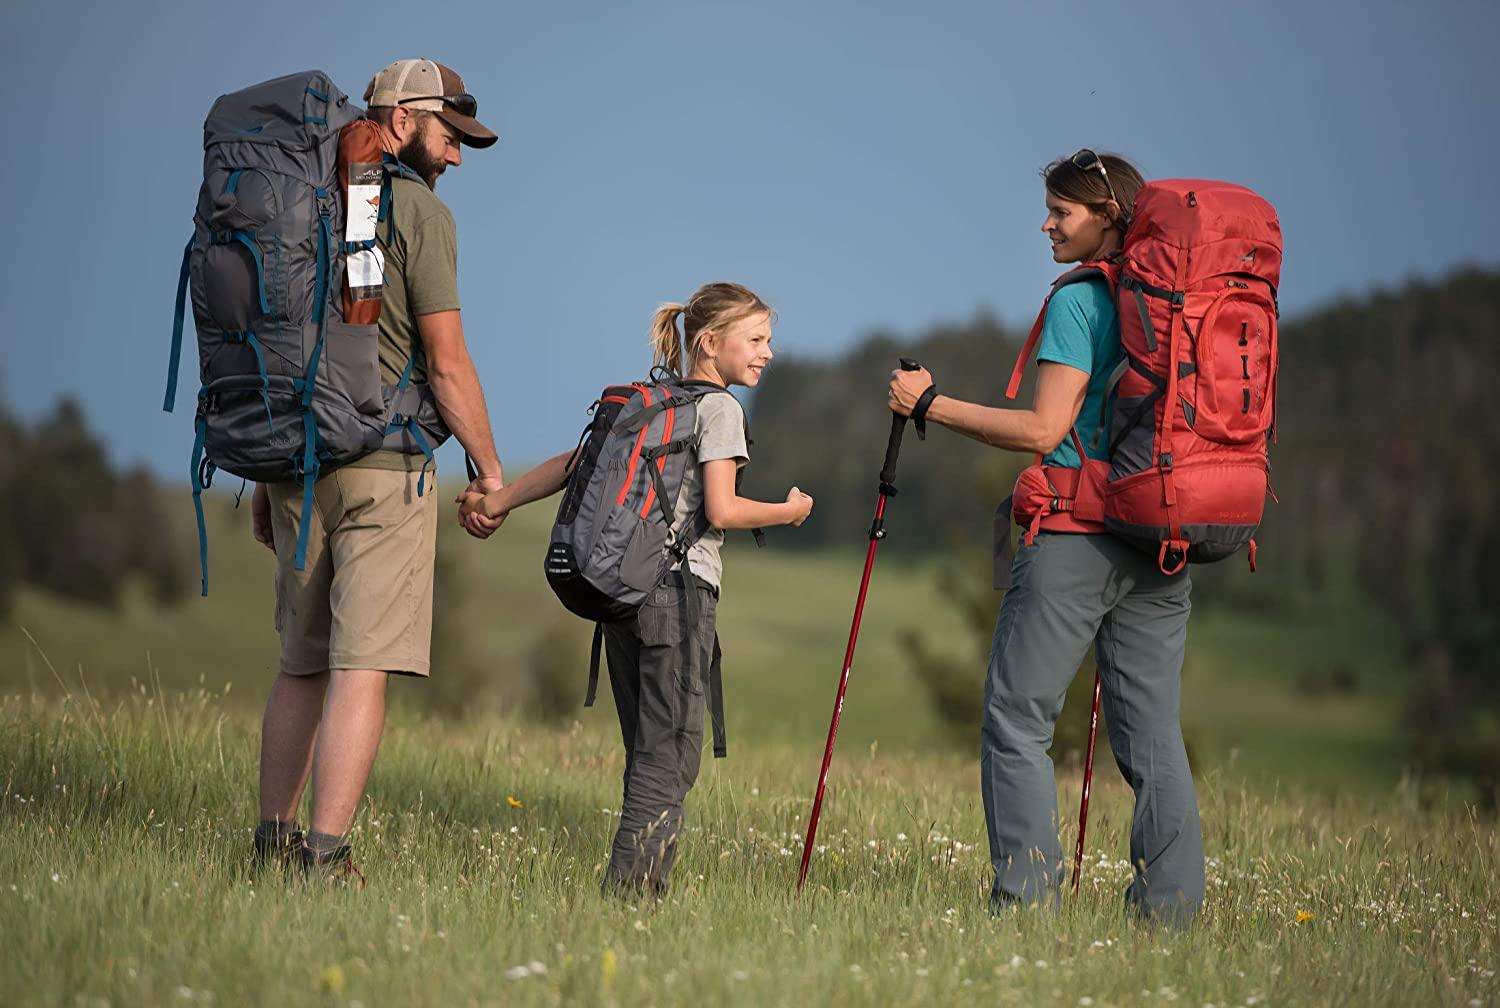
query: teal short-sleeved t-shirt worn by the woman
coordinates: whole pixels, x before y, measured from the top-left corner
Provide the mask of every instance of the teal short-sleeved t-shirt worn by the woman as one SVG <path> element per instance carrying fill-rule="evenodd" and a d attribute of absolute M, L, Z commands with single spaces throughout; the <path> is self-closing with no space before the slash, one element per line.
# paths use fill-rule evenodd
<path fill-rule="evenodd" d="M 1114 312 L 1108 284 L 1102 279 L 1078 280 L 1058 288 L 1047 304 L 1036 360 L 1066 364 L 1089 374 L 1089 390 L 1083 396 L 1083 410 L 1078 411 L 1074 426 L 1090 459 L 1108 459 L 1108 417 L 1114 406 L 1110 375 L 1119 366 L 1120 357 L 1119 315 Z M 1102 435 L 1100 435 L 1101 426 Z M 1042 462 L 1070 470 L 1078 468 L 1078 452 L 1072 447 L 1072 438 L 1064 438 Z"/>

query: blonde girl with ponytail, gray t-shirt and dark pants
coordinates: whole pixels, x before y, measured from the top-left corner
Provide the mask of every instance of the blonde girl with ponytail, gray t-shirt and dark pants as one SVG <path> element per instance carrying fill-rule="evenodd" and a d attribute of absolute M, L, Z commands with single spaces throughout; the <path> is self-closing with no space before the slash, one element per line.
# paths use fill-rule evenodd
<path fill-rule="evenodd" d="M 682 318 L 682 339 L 676 320 Z M 688 381 L 718 388 L 754 388 L 771 363 L 774 314 L 748 288 L 706 284 L 686 304 L 663 304 L 651 322 L 656 364 Z M 704 668 L 714 650 L 714 616 L 723 572 L 718 550 L 724 530 L 801 525 L 813 498 L 795 486 L 786 501 L 753 501 L 735 490 L 735 476 L 750 460 L 744 411 L 730 394 L 698 400 L 696 462 L 682 478 L 674 526 L 702 512 L 710 531 L 687 554 L 699 591 L 696 626 L 686 626 L 686 580 L 680 570 L 646 597 L 633 618 L 604 627 L 609 684 L 626 744 L 626 788 L 620 830 L 604 872 L 606 891 L 660 898 L 676 855 L 682 800 L 698 778 L 704 746 Z M 522 504 L 549 496 L 567 482 L 564 452 L 510 486 L 460 498 L 465 513 L 502 519 Z"/>

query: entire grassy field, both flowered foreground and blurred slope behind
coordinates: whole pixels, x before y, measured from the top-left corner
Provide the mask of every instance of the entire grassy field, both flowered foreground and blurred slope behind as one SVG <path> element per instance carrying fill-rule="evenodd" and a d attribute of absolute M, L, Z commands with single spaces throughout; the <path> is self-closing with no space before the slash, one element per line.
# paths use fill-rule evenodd
<path fill-rule="evenodd" d="M 1494 822 L 1402 772 L 1396 650 L 1334 609 L 1194 615 L 1209 896 L 1191 932 L 1122 914 L 1130 794 L 1107 747 L 1082 896 L 992 918 L 974 747 L 896 642 L 918 627 L 972 663 L 975 708 L 982 652 L 932 564 L 882 555 L 795 898 L 858 538 L 730 548 L 730 759 L 705 760 L 664 904 L 598 896 L 622 766 L 609 692 L 532 712 L 538 681 L 582 693 L 588 638 L 542 584 L 542 507 L 484 544 L 444 530 L 441 660 L 393 686 L 356 824 L 368 885 L 250 879 L 272 558 L 243 513 L 210 520 L 207 600 L 24 591 L 0 628 L 6 1005 L 1500 1004 Z M 1308 688 L 1329 669 L 1353 686 Z M 1059 780 L 1071 849 L 1080 782 Z"/>

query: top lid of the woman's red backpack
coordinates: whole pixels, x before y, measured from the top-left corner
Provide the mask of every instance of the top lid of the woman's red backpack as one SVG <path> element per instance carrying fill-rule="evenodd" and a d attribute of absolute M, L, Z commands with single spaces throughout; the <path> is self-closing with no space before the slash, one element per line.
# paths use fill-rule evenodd
<path fill-rule="evenodd" d="M 1245 261 L 1252 273 L 1274 288 L 1281 285 L 1281 222 L 1276 210 L 1260 195 L 1233 182 L 1212 178 L 1158 178 L 1142 186 L 1136 196 L 1136 213 L 1125 232 L 1125 260 L 1140 266 L 1142 246 L 1156 246 L 1144 258 L 1158 260 L 1170 249 L 1202 249 L 1214 243 L 1248 246 L 1234 258 Z M 1161 249 L 1167 246 L 1167 249 Z M 1212 258 L 1212 256 L 1209 256 Z M 1194 274 L 1214 272 L 1209 262 L 1194 262 Z M 1160 268 L 1156 270 L 1160 273 Z M 1226 270 L 1227 272 L 1227 270 Z M 1172 276 L 1161 276 L 1170 285 Z"/>

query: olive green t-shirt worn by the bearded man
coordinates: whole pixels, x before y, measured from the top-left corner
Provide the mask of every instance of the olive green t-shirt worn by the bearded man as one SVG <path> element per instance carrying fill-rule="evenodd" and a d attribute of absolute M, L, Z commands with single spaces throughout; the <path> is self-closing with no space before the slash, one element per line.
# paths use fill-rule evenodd
<path fill-rule="evenodd" d="M 386 256 L 386 288 L 380 312 L 381 381 L 394 386 L 406 369 L 412 346 L 420 346 L 417 316 L 452 312 L 459 306 L 459 242 L 453 213 L 428 186 L 411 178 L 390 180 L 390 214 L 375 226 L 375 243 Z M 428 380 L 422 357 L 411 381 Z M 350 465 L 372 470 L 420 470 L 426 459 L 404 452 L 372 452 Z"/>

